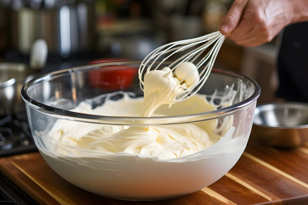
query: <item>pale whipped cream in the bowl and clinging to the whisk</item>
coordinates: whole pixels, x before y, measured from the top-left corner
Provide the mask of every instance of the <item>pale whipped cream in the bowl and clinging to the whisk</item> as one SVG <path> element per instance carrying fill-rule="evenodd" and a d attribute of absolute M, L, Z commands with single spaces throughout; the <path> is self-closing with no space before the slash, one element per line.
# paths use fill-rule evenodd
<path fill-rule="evenodd" d="M 185 68 L 187 68 L 186 73 Z M 117 101 L 106 101 L 103 105 L 91 109 L 91 105 L 80 103 L 73 109 L 75 112 L 105 116 L 142 116 L 150 117 L 163 104 L 175 103 L 176 96 L 183 91 L 183 87 L 193 85 L 199 79 L 196 66 L 189 62 L 181 63 L 177 68 L 177 76 L 173 77 L 170 68 L 162 70 L 147 71 L 144 75 L 144 98 L 133 99 L 124 95 Z M 193 72 L 195 70 L 195 72 Z M 191 72 L 196 73 L 189 75 Z M 181 75 L 179 73 L 182 73 Z M 180 84 L 180 80 L 183 80 Z M 186 84 L 188 83 L 188 84 Z M 191 101 L 184 101 L 184 105 L 191 113 L 191 107 L 196 102 L 207 111 L 216 108 L 209 104 L 205 96 L 196 96 Z M 124 107 L 124 109 L 119 109 Z M 131 108 L 132 109 L 131 109 Z M 142 107 L 141 113 L 138 108 Z M 179 107 L 184 109 L 184 107 Z M 205 112 L 204 109 L 199 112 Z M 166 112 L 165 112 L 166 113 Z M 169 116 L 177 115 L 176 112 Z M 155 116 L 155 115 L 154 115 Z M 164 116 L 164 114 L 160 115 Z M 215 122 L 215 121 L 214 121 Z M 130 153 L 142 156 L 157 157 L 159 159 L 172 159 L 194 154 L 214 144 L 218 137 L 210 139 L 209 133 L 213 135 L 213 127 L 197 126 L 195 124 L 176 124 L 161 126 L 117 126 L 84 124 L 75 121 L 63 123 L 58 120 L 54 125 L 51 136 L 67 146 L 75 146 L 81 149 L 96 150 L 102 153 Z"/>

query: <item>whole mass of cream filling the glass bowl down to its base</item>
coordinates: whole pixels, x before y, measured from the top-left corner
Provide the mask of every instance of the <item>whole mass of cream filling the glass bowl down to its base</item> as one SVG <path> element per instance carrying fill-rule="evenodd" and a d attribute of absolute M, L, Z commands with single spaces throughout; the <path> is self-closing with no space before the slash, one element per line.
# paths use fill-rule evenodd
<path fill-rule="evenodd" d="M 148 104 L 143 97 L 116 92 L 102 96 L 105 101 L 98 107 L 92 108 L 91 100 L 87 100 L 71 111 L 102 116 L 180 116 L 232 104 L 222 97 L 216 106 L 200 94 L 173 104 L 172 99 L 181 88 L 168 92 L 163 83 L 170 82 L 164 79 L 160 82 L 157 84 L 160 89 L 149 88 Z M 229 94 L 236 94 L 232 87 L 229 90 Z M 120 99 L 111 100 L 119 94 Z M 254 106 L 237 115 L 248 115 Z M 50 130 L 34 132 L 34 139 L 45 161 L 60 176 L 99 195 L 153 200 L 186 195 L 221 178 L 244 151 L 252 121 L 248 125 L 240 121 L 234 124 L 231 115 L 173 125 L 123 126 L 64 119 L 51 123 Z M 235 131 L 240 126 L 245 131 L 238 134 Z"/>

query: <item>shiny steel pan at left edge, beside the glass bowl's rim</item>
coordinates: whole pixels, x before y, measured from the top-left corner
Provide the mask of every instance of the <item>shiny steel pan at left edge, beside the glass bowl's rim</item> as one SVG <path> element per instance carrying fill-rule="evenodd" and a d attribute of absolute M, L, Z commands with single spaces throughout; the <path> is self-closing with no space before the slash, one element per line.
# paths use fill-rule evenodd
<path fill-rule="evenodd" d="M 22 63 L 0 63 L 0 116 L 25 112 L 22 86 L 38 76 Z"/>

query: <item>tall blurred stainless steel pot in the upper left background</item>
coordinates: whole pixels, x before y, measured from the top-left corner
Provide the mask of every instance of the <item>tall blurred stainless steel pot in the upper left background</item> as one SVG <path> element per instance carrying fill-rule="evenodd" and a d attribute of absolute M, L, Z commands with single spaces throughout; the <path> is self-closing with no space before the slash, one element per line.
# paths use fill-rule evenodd
<path fill-rule="evenodd" d="M 53 7 L 33 9 L 23 6 L 10 10 L 13 46 L 28 54 L 34 40 L 47 42 L 48 52 L 68 57 L 94 46 L 95 7 L 93 0 L 59 1 Z M 44 3 L 43 5 L 46 5 Z"/>

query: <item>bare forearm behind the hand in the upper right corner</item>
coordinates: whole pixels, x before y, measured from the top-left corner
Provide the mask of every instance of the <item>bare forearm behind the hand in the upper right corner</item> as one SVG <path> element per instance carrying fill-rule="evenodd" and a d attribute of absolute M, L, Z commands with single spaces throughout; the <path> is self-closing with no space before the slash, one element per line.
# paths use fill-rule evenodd
<path fill-rule="evenodd" d="M 292 23 L 308 21 L 308 0 L 292 0 L 293 20 Z"/>

